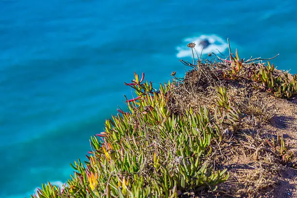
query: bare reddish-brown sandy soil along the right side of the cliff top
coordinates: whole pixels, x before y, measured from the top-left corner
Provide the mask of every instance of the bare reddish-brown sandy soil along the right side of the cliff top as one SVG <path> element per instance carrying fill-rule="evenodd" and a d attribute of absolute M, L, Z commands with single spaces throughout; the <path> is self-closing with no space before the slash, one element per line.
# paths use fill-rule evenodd
<path fill-rule="evenodd" d="M 287 100 L 267 95 L 264 98 L 274 116 L 261 127 L 262 141 L 283 136 L 285 142 L 289 142 L 289 150 L 294 153 L 293 161 L 285 166 L 277 165 L 276 171 L 270 172 L 273 168 L 255 161 L 254 150 L 247 151 L 238 146 L 235 152 L 239 154 L 230 154 L 224 167 L 230 172 L 229 181 L 221 185 L 224 193 L 210 197 L 297 198 L 297 98 Z M 262 159 L 264 153 L 261 153 Z"/>

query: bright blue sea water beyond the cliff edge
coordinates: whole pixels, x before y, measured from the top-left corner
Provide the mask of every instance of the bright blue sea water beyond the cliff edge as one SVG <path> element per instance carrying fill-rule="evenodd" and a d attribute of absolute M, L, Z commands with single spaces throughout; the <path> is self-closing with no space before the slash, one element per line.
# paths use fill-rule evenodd
<path fill-rule="evenodd" d="M 0 198 L 66 182 L 133 72 L 183 76 L 189 42 L 297 73 L 296 0 L 0 0 Z"/>

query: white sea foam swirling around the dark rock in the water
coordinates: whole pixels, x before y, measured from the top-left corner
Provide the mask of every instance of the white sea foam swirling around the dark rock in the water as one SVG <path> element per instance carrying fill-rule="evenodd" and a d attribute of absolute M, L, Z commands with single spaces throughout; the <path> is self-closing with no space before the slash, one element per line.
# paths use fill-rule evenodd
<path fill-rule="evenodd" d="M 203 46 L 199 45 L 199 43 L 204 40 L 208 40 L 210 45 L 203 49 Z M 191 48 L 187 47 L 188 43 L 196 44 L 195 49 L 197 50 L 198 55 L 200 55 L 201 51 L 202 54 L 209 54 L 211 52 L 217 53 L 217 50 L 219 50 L 220 52 L 224 52 L 228 48 L 228 44 L 224 42 L 222 38 L 214 34 L 200 35 L 199 37 L 190 37 L 185 38 L 183 40 L 183 43 L 176 48 L 178 50 L 178 53 L 176 55 L 178 58 L 193 56 Z M 196 52 L 194 52 L 194 54 L 196 54 Z"/>

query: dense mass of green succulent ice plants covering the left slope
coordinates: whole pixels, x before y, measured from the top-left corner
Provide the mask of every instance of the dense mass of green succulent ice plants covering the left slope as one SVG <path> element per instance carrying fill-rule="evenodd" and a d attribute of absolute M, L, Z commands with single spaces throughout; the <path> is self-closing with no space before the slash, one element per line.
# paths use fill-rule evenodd
<path fill-rule="evenodd" d="M 227 169 L 215 170 L 208 161 L 213 140 L 221 139 L 209 109 L 171 113 L 167 102 L 173 85 L 154 90 L 144 74 L 141 80 L 135 74 L 126 85 L 137 94 L 127 99 L 129 112 L 119 110 L 106 120 L 105 132 L 91 137 L 92 155 L 84 164 L 78 160 L 71 165 L 75 172 L 63 190 L 48 183 L 38 189 L 39 197 L 169 198 L 189 190 L 214 190 L 228 179 Z M 224 92 L 219 96 L 226 97 Z M 222 111 L 236 115 L 224 99 Z"/>

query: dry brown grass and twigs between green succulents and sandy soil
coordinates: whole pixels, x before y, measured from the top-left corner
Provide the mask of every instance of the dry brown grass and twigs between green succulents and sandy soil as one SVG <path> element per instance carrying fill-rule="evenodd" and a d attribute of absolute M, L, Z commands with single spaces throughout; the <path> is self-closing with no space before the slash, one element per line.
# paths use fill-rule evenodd
<path fill-rule="evenodd" d="M 183 62 L 183 61 L 182 61 Z M 199 197 L 275 197 L 274 189 L 281 180 L 280 171 L 286 165 L 282 155 L 267 145 L 262 135 L 263 128 L 275 115 L 269 107 L 271 94 L 265 89 L 256 89 L 254 82 L 247 79 L 247 70 L 236 79 L 222 78 L 221 71 L 230 67 L 227 62 L 205 61 L 197 65 L 183 62 L 192 67 L 183 81 L 176 80 L 176 88 L 171 92 L 169 108 L 175 113 L 198 110 L 206 106 L 214 113 L 218 96 L 216 87 L 226 87 L 228 102 L 242 114 L 240 126 L 222 123 L 223 140 L 213 142 L 210 156 L 217 169 L 228 168 L 230 178 L 219 185 L 216 191 L 207 191 Z M 261 64 L 250 63 L 245 68 L 257 70 Z M 280 70 L 274 75 L 286 76 Z M 289 75 L 290 79 L 293 76 Z M 271 141 L 271 140 L 270 140 Z M 189 195 L 188 197 L 195 197 Z M 196 196 L 197 197 L 197 196 Z"/>

